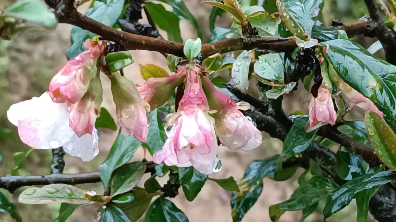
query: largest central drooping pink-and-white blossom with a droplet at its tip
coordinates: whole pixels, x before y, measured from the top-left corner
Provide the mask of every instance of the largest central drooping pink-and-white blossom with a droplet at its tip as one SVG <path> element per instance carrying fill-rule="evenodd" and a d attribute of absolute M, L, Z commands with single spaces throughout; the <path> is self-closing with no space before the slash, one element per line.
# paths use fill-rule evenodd
<path fill-rule="evenodd" d="M 186 65 L 181 72 L 187 72 L 184 95 L 179 109 L 167 116 L 168 139 L 161 151 L 154 153 L 155 163 L 165 162 L 170 166 L 193 166 L 204 174 L 213 173 L 217 164 L 218 150 L 214 130 L 215 120 L 207 112 L 206 95 L 202 89 L 200 66 Z"/>

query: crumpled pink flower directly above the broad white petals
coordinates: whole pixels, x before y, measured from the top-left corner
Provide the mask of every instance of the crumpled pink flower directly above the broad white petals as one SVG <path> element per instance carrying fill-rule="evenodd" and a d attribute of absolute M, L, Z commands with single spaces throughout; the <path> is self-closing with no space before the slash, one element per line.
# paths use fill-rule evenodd
<path fill-rule="evenodd" d="M 84 43 L 84 46 L 88 47 L 88 50 L 67 61 L 52 78 L 48 93 L 53 102 L 76 103 L 87 92 L 89 81 L 99 71 L 97 58 L 101 55 L 103 46 L 97 42 L 93 44 L 90 39 Z"/>

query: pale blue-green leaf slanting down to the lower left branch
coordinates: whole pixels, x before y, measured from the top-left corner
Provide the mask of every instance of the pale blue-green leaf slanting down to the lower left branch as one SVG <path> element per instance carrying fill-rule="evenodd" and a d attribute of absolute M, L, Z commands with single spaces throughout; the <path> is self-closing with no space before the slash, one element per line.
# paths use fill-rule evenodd
<path fill-rule="evenodd" d="M 105 162 L 99 166 L 100 178 L 105 190 L 109 186 L 113 171 L 128 162 L 141 145 L 142 143 L 132 135 L 124 136 L 123 134 L 118 134 Z"/>

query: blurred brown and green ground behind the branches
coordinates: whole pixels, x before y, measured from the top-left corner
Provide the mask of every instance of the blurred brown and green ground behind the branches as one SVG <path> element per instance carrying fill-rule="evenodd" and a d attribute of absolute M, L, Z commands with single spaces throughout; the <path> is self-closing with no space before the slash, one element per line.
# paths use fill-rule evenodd
<path fill-rule="evenodd" d="M 200 0 L 183 0 L 190 9 L 191 13 L 196 17 L 200 28 L 204 34 L 203 43 L 209 37 L 209 13 L 211 6 L 200 4 Z M 14 1 L 1 0 L 0 11 Z M 262 1 L 261 1 L 262 2 Z M 158 2 L 156 2 L 158 3 Z M 86 3 L 78 8 L 84 13 L 89 7 Z M 340 19 L 342 22 L 355 21 L 367 15 L 367 9 L 363 0 L 324 0 L 322 5 L 322 22 L 329 26 L 332 19 Z M 145 18 L 141 23 L 146 23 Z M 230 27 L 232 19 L 227 14 L 222 18 L 218 18 L 215 26 Z M 183 40 L 195 38 L 194 28 L 188 21 L 181 20 L 181 36 Z M 59 24 L 54 30 L 40 30 L 22 32 L 13 36 L 11 41 L 0 40 L 0 175 L 10 174 L 14 167 L 13 154 L 20 151 L 29 151 L 30 148 L 24 145 L 18 135 L 17 128 L 7 120 L 6 111 L 11 104 L 23 100 L 28 100 L 32 96 L 40 96 L 48 90 L 49 82 L 55 73 L 65 64 L 65 53 L 70 46 L 70 30 L 72 26 L 69 24 Z M 166 38 L 166 32 L 160 30 L 160 34 Z M 362 36 L 355 37 L 355 40 L 368 47 L 376 40 L 364 38 Z M 150 51 L 129 51 L 135 62 L 124 69 L 125 75 L 132 79 L 136 84 L 143 84 L 144 80 L 140 75 L 139 65 L 155 64 L 166 69 L 166 59 L 160 53 Z M 383 52 L 379 51 L 379 57 L 383 58 Z M 227 71 L 224 73 L 228 75 Z M 104 94 L 102 106 L 110 111 L 115 117 L 115 106 L 112 101 L 110 92 L 110 83 L 108 79 L 102 78 Z M 300 84 L 302 85 L 302 84 Z M 255 82 L 251 83 L 250 94 L 257 95 Z M 297 95 L 296 95 L 297 94 Z M 289 111 L 301 110 L 307 113 L 307 108 L 301 104 L 302 98 L 306 97 L 308 92 L 299 90 L 288 96 L 284 100 L 287 103 L 285 108 Z M 79 158 L 65 155 L 66 167 L 64 173 L 79 173 L 97 171 L 101 163 L 104 162 L 110 147 L 116 138 L 118 131 L 112 131 L 100 128 L 99 148 L 100 152 L 92 161 L 82 162 Z M 249 164 L 255 159 L 263 159 L 282 151 L 282 142 L 273 139 L 268 135 L 264 135 L 264 143 L 251 152 L 232 152 L 222 147 L 219 149 L 219 158 L 223 163 L 223 169 L 219 173 L 211 175 L 213 178 L 227 178 L 233 176 L 239 179 L 243 176 L 244 171 Z M 143 149 L 139 149 L 133 160 L 141 161 L 143 158 L 150 160 L 150 155 L 146 155 Z M 50 165 L 52 161 L 51 151 L 34 150 L 25 162 L 25 166 L 18 170 L 20 175 L 46 175 L 50 173 Z M 268 207 L 272 204 L 280 203 L 289 198 L 293 190 L 298 186 L 297 178 L 303 172 L 303 169 L 297 169 L 297 173 L 288 181 L 276 182 L 271 179 L 264 179 L 264 190 L 257 203 L 246 214 L 242 222 L 269 222 Z M 147 176 L 147 175 L 145 175 Z M 142 181 L 147 179 L 144 177 Z M 167 178 L 159 178 L 160 183 L 165 183 Z M 143 184 L 141 184 L 143 185 Z M 103 192 L 102 185 L 96 184 L 80 184 L 77 185 L 86 190 L 95 190 L 97 193 Z M 17 197 L 24 188 L 18 189 L 13 195 L 8 191 L 1 189 L 11 201 L 13 201 L 25 222 L 47 222 L 52 221 L 59 214 L 59 204 L 48 205 L 25 205 L 18 203 Z M 192 202 L 188 202 L 183 191 L 173 199 L 173 202 L 179 207 L 189 218 L 190 222 L 198 221 L 216 221 L 229 222 L 231 218 L 230 197 L 231 192 L 223 190 L 213 181 L 207 181 L 202 188 L 198 197 Z M 319 209 L 322 209 L 324 202 L 321 203 Z M 95 221 L 95 210 L 93 206 L 78 208 L 70 216 L 69 222 L 89 222 Z M 280 219 L 280 222 L 298 221 L 301 212 L 286 212 Z M 370 221 L 375 221 L 369 216 Z M 343 222 L 356 220 L 356 205 L 354 201 L 348 207 L 339 213 L 331 216 L 329 222 Z M 0 221 L 12 221 L 8 214 L 0 214 Z M 139 220 L 143 221 L 143 217 Z M 323 221 L 320 211 L 312 214 L 306 222 Z"/>

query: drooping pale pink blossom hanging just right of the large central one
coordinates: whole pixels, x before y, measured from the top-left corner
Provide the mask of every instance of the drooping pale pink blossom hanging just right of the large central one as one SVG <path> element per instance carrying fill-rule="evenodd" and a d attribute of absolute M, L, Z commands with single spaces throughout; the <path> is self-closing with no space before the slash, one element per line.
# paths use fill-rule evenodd
<path fill-rule="evenodd" d="M 216 134 L 220 142 L 231 150 L 250 151 L 263 141 L 263 135 L 245 117 L 238 106 L 227 95 L 215 89 L 208 78 L 205 78 L 204 90 L 208 96 L 209 106 L 217 109 L 215 116 Z"/>

